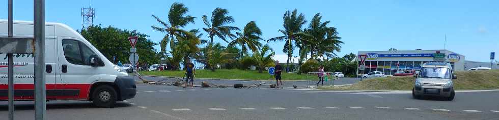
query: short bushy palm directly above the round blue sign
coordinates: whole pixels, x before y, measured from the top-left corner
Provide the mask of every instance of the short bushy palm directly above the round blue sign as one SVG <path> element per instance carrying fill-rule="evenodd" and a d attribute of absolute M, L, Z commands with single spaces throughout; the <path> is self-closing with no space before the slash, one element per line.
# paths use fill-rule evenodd
<path fill-rule="evenodd" d="M 267 54 L 267 52 L 270 51 L 270 53 Z M 275 52 L 270 48 L 267 44 L 262 47 L 262 50 L 259 52 L 254 52 L 253 53 L 253 58 L 255 58 L 255 62 L 257 63 L 259 69 L 258 73 L 262 73 L 263 68 L 265 65 L 268 63 L 272 63 L 272 57 L 275 55 Z"/>

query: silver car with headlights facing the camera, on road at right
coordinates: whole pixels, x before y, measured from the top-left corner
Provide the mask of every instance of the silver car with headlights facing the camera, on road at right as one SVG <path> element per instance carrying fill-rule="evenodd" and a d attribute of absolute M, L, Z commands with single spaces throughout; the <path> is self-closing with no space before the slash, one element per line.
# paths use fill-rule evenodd
<path fill-rule="evenodd" d="M 412 97 L 420 99 L 422 96 L 439 96 L 447 100 L 454 99 L 453 79 L 457 79 L 452 71 L 451 64 L 430 62 L 423 65 L 412 88 Z"/>

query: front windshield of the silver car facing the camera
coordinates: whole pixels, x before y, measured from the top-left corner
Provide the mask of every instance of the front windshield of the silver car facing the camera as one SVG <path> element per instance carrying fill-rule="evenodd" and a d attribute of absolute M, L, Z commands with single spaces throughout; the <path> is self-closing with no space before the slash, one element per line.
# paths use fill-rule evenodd
<path fill-rule="evenodd" d="M 445 79 L 450 79 L 451 78 L 451 73 L 450 73 L 449 68 L 427 67 L 427 68 L 421 69 L 419 77 L 422 77 L 422 78 L 445 78 Z"/>

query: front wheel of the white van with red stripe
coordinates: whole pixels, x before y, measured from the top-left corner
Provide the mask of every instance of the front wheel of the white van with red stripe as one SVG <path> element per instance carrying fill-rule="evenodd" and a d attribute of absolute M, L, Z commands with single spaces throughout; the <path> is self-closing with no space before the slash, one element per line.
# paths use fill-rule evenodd
<path fill-rule="evenodd" d="M 112 107 L 118 98 L 116 95 L 116 91 L 113 87 L 101 85 L 97 86 L 92 93 L 92 101 L 95 106 L 100 108 Z"/>

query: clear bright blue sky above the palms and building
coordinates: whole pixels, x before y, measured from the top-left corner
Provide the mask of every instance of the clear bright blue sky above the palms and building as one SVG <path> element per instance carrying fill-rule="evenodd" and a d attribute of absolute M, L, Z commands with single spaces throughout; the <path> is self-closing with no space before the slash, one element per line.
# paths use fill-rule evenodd
<path fill-rule="evenodd" d="M 307 20 L 316 13 L 330 26 L 338 28 L 343 56 L 350 52 L 387 50 L 447 49 L 463 54 L 468 61 L 490 62 L 489 53 L 499 52 L 499 1 L 91 1 L 96 10 L 94 24 L 137 29 L 152 41 L 159 42 L 163 33 L 151 25 L 159 25 L 151 15 L 166 21 L 174 2 L 185 4 L 197 17 L 185 29 L 205 27 L 202 15 L 210 15 L 220 7 L 235 18 L 230 24 L 244 27 L 252 20 L 262 29 L 264 39 L 282 36 L 282 16 L 287 10 L 298 9 Z M 0 19 L 7 19 L 7 1 L 0 2 Z M 89 1 L 51 0 L 46 3 L 46 21 L 81 28 L 81 8 Z M 33 1 L 14 1 L 15 20 L 33 20 Z M 304 25 L 303 27 L 308 27 Z M 205 34 L 206 35 L 206 34 Z M 204 39 L 209 39 L 207 36 Z M 219 39 L 215 41 L 223 42 Z M 262 43 L 264 43 L 262 41 Z M 276 59 L 285 61 L 283 42 L 271 42 Z M 156 46 L 158 49 L 158 46 Z M 296 52 L 295 52 L 296 54 Z M 497 56 L 499 57 L 499 56 Z M 283 60 L 284 59 L 284 60 Z"/>

